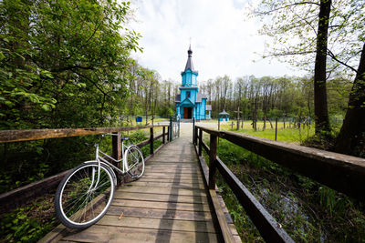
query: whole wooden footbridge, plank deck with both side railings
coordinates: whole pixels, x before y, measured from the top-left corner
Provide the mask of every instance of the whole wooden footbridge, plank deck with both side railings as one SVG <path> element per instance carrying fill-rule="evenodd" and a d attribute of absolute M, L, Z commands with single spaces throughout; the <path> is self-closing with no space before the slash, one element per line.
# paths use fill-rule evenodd
<path fill-rule="evenodd" d="M 154 137 L 155 127 L 162 127 L 162 135 Z M 190 133 L 175 140 L 172 140 L 170 125 L 0 131 L 0 142 L 119 133 L 143 128 L 150 128 L 151 132 L 150 139 L 138 145 L 150 145 L 151 155 L 146 159 L 144 176 L 132 182 L 124 178 L 109 211 L 97 224 L 81 231 L 59 225 L 41 242 L 240 242 L 224 201 L 217 195 L 216 171 L 231 187 L 266 241 L 293 242 L 281 224 L 216 156 L 218 137 L 350 197 L 365 199 L 365 159 L 194 125 L 188 129 Z M 209 146 L 203 142 L 203 132 L 209 135 Z M 162 146 L 153 150 L 153 141 L 160 138 Z M 113 140 L 113 157 L 116 158 L 120 157 L 119 143 L 119 139 Z M 209 155 L 209 167 L 202 157 L 203 150 Z M 65 173 L 0 195 L 0 208 L 8 210 L 44 193 L 44 185 L 57 185 Z"/>

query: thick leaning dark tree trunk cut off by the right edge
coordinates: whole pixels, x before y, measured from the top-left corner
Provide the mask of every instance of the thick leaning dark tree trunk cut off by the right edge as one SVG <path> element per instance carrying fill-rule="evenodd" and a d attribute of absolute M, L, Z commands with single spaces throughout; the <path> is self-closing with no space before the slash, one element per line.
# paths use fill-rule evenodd
<path fill-rule="evenodd" d="M 349 106 L 339 136 L 336 152 L 365 157 L 365 43 L 360 64 L 349 94 Z"/>

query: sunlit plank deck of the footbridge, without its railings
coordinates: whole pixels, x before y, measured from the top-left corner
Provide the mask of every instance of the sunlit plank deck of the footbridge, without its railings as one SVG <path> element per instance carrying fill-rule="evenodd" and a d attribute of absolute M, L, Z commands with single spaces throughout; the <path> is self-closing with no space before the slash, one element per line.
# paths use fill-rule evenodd
<path fill-rule="evenodd" d="M 107 215 L 97 224 L 82 231 L 67 229 L 53 240 L 223 241 L 214 228 L 214 209 L 210 207 L 203 175 L 190 140 L 182 137 L 162 147 L 146 163 L 141 179 L 116 190 Z M 53 238 L 54 233 L 48 237 Z M 237 242 L 240 242 L 236 231 L 234 233 Z M 45 238 L 45 241 L 49 240 Z"/>

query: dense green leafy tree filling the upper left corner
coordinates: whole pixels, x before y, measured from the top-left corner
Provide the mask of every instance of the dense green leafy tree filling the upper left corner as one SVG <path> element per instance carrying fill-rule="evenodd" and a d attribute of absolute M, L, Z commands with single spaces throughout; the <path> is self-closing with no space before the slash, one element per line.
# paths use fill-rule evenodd
<path fill-rule="evenodd" d="M 122 26 L 129 13 L 126 2 L 2 1 L 1 128 L 116 121 L 130 50 L 139 48 L 139 35 Z"/>

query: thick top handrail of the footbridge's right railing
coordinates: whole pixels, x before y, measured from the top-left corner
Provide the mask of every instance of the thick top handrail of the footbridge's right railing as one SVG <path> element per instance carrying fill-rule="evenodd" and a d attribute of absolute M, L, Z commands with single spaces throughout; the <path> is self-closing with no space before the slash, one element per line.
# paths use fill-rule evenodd
<path fill-rule="evenodd" d="M 198 127 L 341 193 L 365 200 L 365 159 L 234 132 Z"/>

